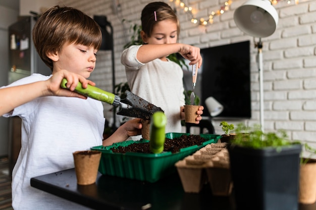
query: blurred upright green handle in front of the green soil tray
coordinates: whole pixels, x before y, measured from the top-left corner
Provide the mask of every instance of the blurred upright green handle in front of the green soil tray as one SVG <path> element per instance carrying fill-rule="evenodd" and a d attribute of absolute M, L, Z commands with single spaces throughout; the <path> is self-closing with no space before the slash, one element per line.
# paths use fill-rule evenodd
<path fill-rule="evenodd" d="M 163 112 L 155 112 L 150 120 L 150 141 L 149 147 L 152 153 L 161 153 L 164 151 L 166 140 L 165 128 L 167 118 Z"/>

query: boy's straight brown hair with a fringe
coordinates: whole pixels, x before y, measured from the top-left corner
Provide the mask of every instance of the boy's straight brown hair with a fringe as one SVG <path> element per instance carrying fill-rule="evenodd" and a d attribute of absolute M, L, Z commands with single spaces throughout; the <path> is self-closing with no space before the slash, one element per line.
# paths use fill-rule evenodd
<path fill-rule="evenodd" d="M 60 53 L 65 43 L 93 46 L 99 49 L 102 35 L 99 25 L 83 12 L 55 6 L 44 12 L 34 25 L 33 42 L 43 62 L 53 69 L 48 53 Z"/>

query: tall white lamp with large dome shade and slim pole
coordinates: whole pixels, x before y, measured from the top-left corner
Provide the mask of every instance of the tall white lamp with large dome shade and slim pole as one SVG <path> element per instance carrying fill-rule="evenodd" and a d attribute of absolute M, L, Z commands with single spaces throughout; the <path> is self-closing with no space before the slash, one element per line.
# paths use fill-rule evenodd
<path fill-rule="evenodd" d="M 235 10 L 234 21 L 241 31 L 259 38 L 255 46 L 258 48 L 259 60 L 260 124 L 261 130 L 264 132 L 264 78 L 261 38 L 270 36 L 275 32 L 279 21 L 278 13 L 269 0 L 249 0 Z"/>

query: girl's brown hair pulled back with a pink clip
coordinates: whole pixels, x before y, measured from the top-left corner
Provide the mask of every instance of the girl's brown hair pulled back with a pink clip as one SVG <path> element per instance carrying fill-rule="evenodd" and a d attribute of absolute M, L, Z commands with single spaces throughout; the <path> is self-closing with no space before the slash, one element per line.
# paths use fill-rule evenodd
<path fill-rule="evenodd" d="M 177 23 L 177 35 L 180 33 L 180 23 L 175 11 L 164 2 L 152 2 L 146 5 L 141 12 L 141 28 L 150 37 L 153 26 L 163 20 L 172 20 Z"/>

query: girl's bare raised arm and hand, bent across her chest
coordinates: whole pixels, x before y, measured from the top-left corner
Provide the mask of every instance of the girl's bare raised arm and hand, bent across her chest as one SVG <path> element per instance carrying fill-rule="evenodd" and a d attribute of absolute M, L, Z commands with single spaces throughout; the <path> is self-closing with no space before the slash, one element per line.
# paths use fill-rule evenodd
<path fill-rule="evenodd" d="M 189 65 L 198 62 L 198 68 L 202 65 L 200 48 L 188 44 L 144 44 L 139 47 L 136 58 L 141 63 L 148 63 L 155 59 L 167 57 L 170 54 L 179 53 L 183 58 L 191 61 Z"/>

